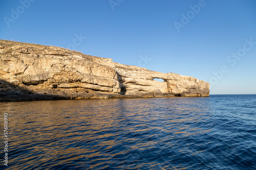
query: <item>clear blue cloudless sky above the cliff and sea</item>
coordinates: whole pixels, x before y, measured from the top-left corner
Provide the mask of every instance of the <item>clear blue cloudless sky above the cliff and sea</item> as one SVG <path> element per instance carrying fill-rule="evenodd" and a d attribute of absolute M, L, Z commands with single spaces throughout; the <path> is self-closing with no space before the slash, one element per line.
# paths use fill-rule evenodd
<path fill-rule="evenodd" d="M 0 0 L 0 39 L 54 45 L 256 94 L 254 0 Z"/>

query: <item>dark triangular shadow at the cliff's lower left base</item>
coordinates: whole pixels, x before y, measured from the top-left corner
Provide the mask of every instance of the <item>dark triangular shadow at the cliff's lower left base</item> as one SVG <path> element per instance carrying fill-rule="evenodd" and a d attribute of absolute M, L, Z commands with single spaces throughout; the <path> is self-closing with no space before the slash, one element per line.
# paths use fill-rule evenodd
<path fill-rule="evenodd" d="M 39 94 L 0 79 L 0 102 L 63 100 L 67 96 Z"/>

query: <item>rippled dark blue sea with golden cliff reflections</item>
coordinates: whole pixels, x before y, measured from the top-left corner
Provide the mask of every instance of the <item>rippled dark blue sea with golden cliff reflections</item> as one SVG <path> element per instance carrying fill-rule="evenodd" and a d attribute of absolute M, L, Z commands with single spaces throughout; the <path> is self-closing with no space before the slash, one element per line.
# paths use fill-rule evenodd
<path fill-rule="evenodd" d="M 254 94 L 4 102 L 0 113 L 0 169 L 256 169 Z"/>

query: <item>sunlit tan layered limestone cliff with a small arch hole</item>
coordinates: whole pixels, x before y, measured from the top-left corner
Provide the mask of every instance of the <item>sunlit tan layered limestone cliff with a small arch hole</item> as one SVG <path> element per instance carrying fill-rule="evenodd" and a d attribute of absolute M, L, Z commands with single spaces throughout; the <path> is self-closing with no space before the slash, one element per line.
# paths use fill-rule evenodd
<path fill-rule="evenodd" d="M 0 80 L 0 98 L 6 99 L 13 91 L 22 98 L 24 90 L 26 98 L 28 93 L 58 99 L 209 96 L 209 83 L 193 77 L 163 74 L 55 46 L 6 40 L 0 40 Z"/>

